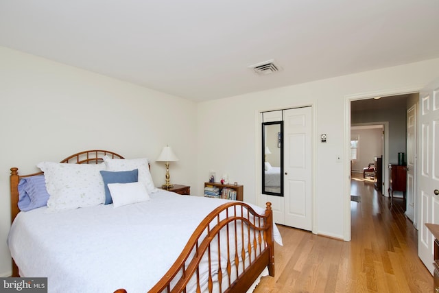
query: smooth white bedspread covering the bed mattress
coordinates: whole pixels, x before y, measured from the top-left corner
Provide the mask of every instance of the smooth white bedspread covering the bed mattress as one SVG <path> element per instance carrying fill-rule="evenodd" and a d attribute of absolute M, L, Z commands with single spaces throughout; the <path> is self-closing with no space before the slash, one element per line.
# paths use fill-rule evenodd
<path fill-rule="evenodd" d="M 201 220 L 226 201 L 168 191 L 150 196 L 150 201 L 117 209 L 108 204 L 19 213 L 8 245 L 21 277 L 48 277 L 49 292 L 147 292 Z M 276 226 L 274 239 L 282 244 Z"/>

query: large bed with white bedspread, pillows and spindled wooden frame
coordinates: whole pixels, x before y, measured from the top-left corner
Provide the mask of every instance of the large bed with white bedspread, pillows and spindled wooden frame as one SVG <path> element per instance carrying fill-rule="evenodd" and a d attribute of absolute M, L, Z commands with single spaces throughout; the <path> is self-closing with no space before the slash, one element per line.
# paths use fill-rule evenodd
<path fill-rule="evenodd" d="M 13 277 L 47 277 L 49 292 L 246 292 L 262 274 L 274 276 L 274 241 L 281 244 L 281 236 L 269 202 L 262 209 L 155 189 L 148 186 L 152 181 L 145 159 L 136 169 L 139 182 L 107 184 L 102 175 L 111 196 L 115 191 L 110 204 L 86 200 L 85 207 L 65 209 L 65 200 L 51 193 L 48 180 L 64 174 L 64 168 L 78 168 L 71 163 L 92 165 L 87 168 L 113 176 L 132 174 L 128 169 L 133 162 L 138 163 L 106 150 L 46 162 L 41 168 L 50 198 L 46 206 L 29 211 L 19 209 L 20 183 L 43 172 L 21 176 L 18 168 L 11 168 L 8 246 Z M 145 177 L 148 182 L 141 183 Z M 66 184 L 73 185 L 75 178 Z M 145 189 L 149 198 L 128 196 L 128 191 L 138 194 L 134 186 Z M 124 202 L 131 197 L 138 201 Z M 54 210 L 57 206 L 62 208 Z"/>

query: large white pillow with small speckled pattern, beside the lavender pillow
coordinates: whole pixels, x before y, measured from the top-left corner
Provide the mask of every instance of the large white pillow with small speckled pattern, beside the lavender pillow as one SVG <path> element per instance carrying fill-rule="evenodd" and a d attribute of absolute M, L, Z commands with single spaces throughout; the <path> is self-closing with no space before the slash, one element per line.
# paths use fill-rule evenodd
<path fill-rule="evenodd" d="M 69 164 L 41 162 L 44 172 L 47 207 L 52 211 L 91 207 L 105 202 L 104 180 L 99 173 L 104 164 Z"/>

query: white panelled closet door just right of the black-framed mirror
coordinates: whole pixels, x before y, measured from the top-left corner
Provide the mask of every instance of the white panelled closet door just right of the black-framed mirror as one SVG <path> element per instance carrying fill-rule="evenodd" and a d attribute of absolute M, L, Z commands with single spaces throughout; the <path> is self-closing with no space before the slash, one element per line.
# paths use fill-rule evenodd
<path fill-rule="evenodd" d="M 283 115 L 285 225 L 312 230 L 312 108 L 294 108 Z"/>

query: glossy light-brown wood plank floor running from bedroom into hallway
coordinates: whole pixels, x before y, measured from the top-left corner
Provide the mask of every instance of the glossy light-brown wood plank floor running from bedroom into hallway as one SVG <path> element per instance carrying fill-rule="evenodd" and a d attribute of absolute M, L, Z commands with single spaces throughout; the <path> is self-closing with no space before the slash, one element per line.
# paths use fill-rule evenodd
<path fill-rule="evenodd" d="M 361 178 L 351 181 L 352 195 L 361 197 L 351 201 L 351 242 L 278 225 L 275 277 L 263 277 L 254 293 L 433 291 L 403 200 L 392 204 Z"/>

